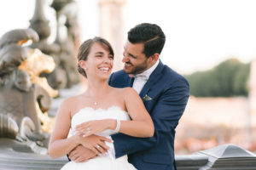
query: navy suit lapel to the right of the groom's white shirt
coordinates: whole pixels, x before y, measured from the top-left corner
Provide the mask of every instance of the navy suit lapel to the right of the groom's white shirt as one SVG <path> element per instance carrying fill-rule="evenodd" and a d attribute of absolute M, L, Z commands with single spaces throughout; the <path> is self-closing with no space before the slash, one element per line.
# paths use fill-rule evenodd
<path fill-rule="evenodd" d="M 154 83 L 158 81 L 158 79 L 160 78 L 160 73 L 163 70 L 163 68 L 164 68 L 164 65 L 160 61 L 159 65 L 157 65 L 155 70 L 152 72 L 152 74 L 150 75 L 150 77 L 148 79 L 148 82 L 146 82 L 146 84 L 144 85 L 144 87 L 140 93 L 140 97 L 142 99 L 148 93 L 148 90 L 154 85 Z"/>

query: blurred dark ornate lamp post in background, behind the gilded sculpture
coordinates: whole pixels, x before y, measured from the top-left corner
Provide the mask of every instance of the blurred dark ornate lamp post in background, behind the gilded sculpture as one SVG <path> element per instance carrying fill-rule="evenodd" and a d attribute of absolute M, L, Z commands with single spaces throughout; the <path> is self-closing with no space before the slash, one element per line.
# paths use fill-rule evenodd
<path fill-rule="evenodd" d="M 30 27 L 37 31 L 40 37 L 38 42 L 32 44 L 32 48 L 39 48 L 44 54 L 53 56 L 55 60 L 55 70 L 42 74 L 47 78 L 49 85 L 55 89 L 71 88 L 73 84 L 79 83 L 79 74 L 76 71 L 76 49 L 74 48 L 74 41 L 79 43 L 77 41 L 79 31 L 76 29 L 78 27 L 76 18 L 74 17 L 76 15 L 72 15 L 76 14 L 77 10 L 73 10 L 72 14 L 70 13 L 72 8 L 65 8 L 63 12 L 61 10 L 67 7 L 69 3 L 71 2 L 67 0 L 53 1 L 52 3 L 52 7 L 56 11 L 57 22 L 55 42 L 48 42 L 51 29 L 49 27 L 49 20 L 46 19 L 44 14 L 44 8 L 46 7 L 44 0 L 36 1 L 35 12 L 32 20 L 30 20 Z M 59 20 L 60 16 L 67 18 L 67 26 Z M 61 33 L 65 35 L 60 35 Z"/>

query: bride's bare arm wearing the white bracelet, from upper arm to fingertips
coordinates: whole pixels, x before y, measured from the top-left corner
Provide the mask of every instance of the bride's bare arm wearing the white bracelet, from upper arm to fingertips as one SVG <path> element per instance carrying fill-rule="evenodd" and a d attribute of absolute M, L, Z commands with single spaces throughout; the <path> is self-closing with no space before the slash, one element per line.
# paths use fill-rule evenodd
<path fill-rule="evenodd" d="M 89 121 L 78 125 L 76 130 L 86 137 L 106 129 L 115 130 L 119 124 L 119 133 L 140 138 L 152 137 L 154 135 L 154 124 L 143 105 L 142 99 L 133 88 L 124 88 L 122 94 L 131 121 L 120 121 L 120 123 L 117 123 L 114 119 Z"/>

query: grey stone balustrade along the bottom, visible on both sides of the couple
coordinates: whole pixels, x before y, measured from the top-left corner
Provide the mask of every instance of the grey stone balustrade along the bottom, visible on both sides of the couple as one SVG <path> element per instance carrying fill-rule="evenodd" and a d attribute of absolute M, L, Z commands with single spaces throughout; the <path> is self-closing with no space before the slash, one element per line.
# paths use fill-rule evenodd
<path fill-rule="evenodd" d="M 1 146 L 5 146 L 4 148 Z M 188 156 L 175 156 L 177 170 L 253 170 L 256 169 L 256 155 L 234 144 L 219 145 L 210 150 L 201 150 Z M 60 169 L 67 157 L 51 159 L 39 155 L 26 144 L 12 139 L 0 140 L 0 169 Z"/>

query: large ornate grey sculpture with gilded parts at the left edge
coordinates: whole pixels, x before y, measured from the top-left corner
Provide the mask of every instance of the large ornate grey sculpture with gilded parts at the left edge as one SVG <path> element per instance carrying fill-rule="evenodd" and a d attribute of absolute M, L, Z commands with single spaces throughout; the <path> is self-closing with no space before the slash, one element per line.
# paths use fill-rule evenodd
<path fill-rule="evenodd" d="M 46 154 L 49 122 L 41 119 L 47 120 L 45 112 L 58 92 L 39 74 L 53 71 L 55 63 L 40 50 L 23 46 L 28 40 L 37 42 L 37 32 L 17 29 L 0 39 L 0 138 L 19 140 Z"/>

